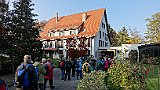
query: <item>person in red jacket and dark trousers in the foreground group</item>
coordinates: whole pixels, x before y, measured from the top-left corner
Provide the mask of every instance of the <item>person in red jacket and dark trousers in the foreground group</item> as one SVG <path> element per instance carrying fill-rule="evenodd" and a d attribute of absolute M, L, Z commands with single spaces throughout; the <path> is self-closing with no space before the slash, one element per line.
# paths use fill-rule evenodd
<path fill-rule="evenodd" d="M 54 89 L 55 86 L 53 86 L 53 69 L 54 65 L 51 62 L 51 59 L 47 59 L 47 62 L 45 63 L 47 74 L 44 76 L 44 88 L 46 88 L 46 83 L 49 81 L 49 85 L 51 89 Z"/>

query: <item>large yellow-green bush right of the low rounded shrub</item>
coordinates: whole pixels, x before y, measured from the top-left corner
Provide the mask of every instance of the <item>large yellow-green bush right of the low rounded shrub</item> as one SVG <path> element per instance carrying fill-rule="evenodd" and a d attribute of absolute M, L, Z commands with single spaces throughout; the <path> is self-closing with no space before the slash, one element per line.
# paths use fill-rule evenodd
<path fill-rule="evenodd" d="M 143 87 L 141 79 L 132 72 L 129 61 L 116 60 L 109 68 L 108 74 L 107 87 L 111 90 L 139 90 Z"/>

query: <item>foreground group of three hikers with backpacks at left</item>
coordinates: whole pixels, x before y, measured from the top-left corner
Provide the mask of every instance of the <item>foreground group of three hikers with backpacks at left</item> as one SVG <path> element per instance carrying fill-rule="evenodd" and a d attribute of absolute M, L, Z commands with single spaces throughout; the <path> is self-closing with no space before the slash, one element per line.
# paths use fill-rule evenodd
<path fill-rule="evenodd" d="M 49 81 L 51 89 L 53 86 L 54 65 L 51 59 L 36 58 L 31 60 L 30 55 L 24 56 L 24 61 L 17 67 L 15 73 L 15 87 L 17 90 L 45 90 L 46 83 Z"/>

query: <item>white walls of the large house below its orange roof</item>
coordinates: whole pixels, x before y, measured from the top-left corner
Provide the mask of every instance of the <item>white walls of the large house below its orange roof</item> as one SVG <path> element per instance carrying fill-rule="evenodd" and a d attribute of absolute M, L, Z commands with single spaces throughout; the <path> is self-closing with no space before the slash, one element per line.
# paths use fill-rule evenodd
<path fill-rule="evenodd" d="M 105 15 L 103 15 L 102 20 L 100 22 L 100 26 L 99 26 L 99 31 L 97 32 L 97 34 L 95 36 L 92 37 L 86 37 L 87 39 L 89 39 L 89 43 L 90 43 L 90 47 L 87 47 L 88 50 L 90 50 L 90 55 L 94 55 L 95 58 L 99 58 L 99 52 L 101 50 L 109 50 L 110 49 L 110 40 L 109 40 L 109 36 L 108 36 L 108 28 L 107 28 L 107 21 L 105 19 Z M 56 32 L 48 32 L 48 35 L 50 37 L 52 36 L 68 36 L 68 35 L 74 35 L 74 34 L 78 34 L 79 30 L 78 29 L 71 29 L 71 30 L 61 30 L 61 31 L 56 31 Z M 85 31 L 85 30 L 83 30 Z M 50 34 L 51 33 L 51 34 Z M 59 43 L 60 41 L 61 43 Z M 88 41 L 87 41 L 88 42 Z M 79 43 L 78 39 L 77 39 L 77 43 Z M 44 48 L 58 48 L 59 52 L 63 52 L 64 57 L 66 57 L 66 38 L 63 39 L 56 39 L 56 40 L 50 40 L 50 41 L 43 41 L 43 47 Z M 59 44 L 61 44 L 60 46 L 63 47 L 58 47 Z M 59 58 L 59 54 L 58 52 L 52 51 L 52 54 L 46 53 L 48 56 L 52 56 L 53 58 Z"/>

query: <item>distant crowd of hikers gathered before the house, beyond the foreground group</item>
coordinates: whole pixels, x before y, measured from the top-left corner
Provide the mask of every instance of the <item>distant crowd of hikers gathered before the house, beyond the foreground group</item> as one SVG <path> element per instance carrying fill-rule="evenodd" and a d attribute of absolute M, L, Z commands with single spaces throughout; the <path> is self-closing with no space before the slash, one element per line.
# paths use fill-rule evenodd
<path fill-rule="evenodd" d="M 83 76 L 89 74 L 91 71 L 106 71 L 114 63 L 113 59 L 110 56 L 101 57 L 99 59 L 90 57 L 80 57 L 78 59 L 65 59 L 63 58 L 60 62 L 61 68 L 61 79 L 66 81 L 71 80 L 72 77 L 77 76 L 77 80 L 83 79 Z"/>

